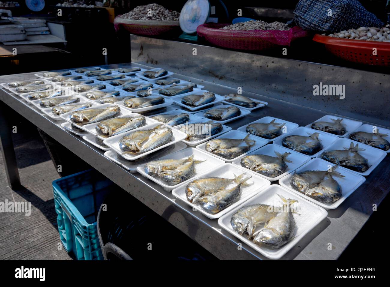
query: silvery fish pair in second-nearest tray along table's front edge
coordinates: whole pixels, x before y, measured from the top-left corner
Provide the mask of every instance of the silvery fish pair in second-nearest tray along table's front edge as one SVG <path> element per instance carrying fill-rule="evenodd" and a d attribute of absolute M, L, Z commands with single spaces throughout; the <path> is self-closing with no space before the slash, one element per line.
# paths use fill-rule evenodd
<path fill-rule="evenodd" d="M 207 213 L 216 214 L 236 200 L 241 186 L 250 178 L 252 176 L 243 173 L 238 176 L 234 174 L 234 179 L 219 177 L 195 179 L 186 186 L 186 197 Z"/>

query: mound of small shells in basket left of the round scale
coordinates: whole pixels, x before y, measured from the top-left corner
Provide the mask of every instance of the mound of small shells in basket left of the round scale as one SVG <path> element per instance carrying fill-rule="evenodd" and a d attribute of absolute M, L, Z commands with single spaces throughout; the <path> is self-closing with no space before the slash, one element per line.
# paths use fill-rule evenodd
<path fill-rule="evenodd" d="M 169 11 L 163 6 L 153 3 L 137 6 L 130 12 L 123 14 L 121 18 L 132 20 L 177 21 L 179 20 L 179 15 L 179 12 Z"/>

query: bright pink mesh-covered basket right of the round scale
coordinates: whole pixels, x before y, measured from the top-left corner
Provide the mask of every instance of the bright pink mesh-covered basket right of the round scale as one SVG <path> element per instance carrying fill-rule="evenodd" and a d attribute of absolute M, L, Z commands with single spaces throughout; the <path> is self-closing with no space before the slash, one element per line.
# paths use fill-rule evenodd
<path fill-rule="evenodd" d="M 297 38 L 306 37 L 308 31 L 300 27 L 290 30 L 220 30 L 229 24 L 206 23 L 197 28 L 198 35 L 216 46 L 236 50 L 265 50 L 277 45 L 290 46 Z"/>

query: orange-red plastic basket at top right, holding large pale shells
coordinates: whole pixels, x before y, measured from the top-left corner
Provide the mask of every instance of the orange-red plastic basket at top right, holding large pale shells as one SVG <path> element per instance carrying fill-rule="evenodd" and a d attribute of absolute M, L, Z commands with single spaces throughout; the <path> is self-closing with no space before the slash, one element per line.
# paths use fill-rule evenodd
<path fill-rule="evenodd" d="M 390 43 L 387 42 L 339 39 L 319 34 L 314 35 L 313 41 L 325 44 L 326 50 L 350 62 L 390 65 Z M 376 48 L 376 55 L 372 55 L 373 48 Z"/>

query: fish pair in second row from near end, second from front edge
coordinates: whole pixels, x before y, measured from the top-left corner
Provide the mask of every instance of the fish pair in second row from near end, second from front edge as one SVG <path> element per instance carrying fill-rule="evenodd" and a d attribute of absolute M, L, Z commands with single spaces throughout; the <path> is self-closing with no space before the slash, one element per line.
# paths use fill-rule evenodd
<path fill-rule="evenodd" d="M 292 163 L 287 157 L 291 154 L 285 152 L 280 154 L 275 151 L 275 156 L 267 156 L 265 154 L 252 154 L 241 158 L 241 166 L 248 168 L 268 177 L 277 177 L 283 174 L 287 169 L 287 163 Z"/>

